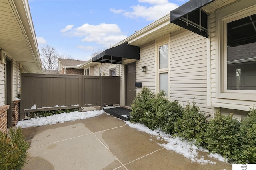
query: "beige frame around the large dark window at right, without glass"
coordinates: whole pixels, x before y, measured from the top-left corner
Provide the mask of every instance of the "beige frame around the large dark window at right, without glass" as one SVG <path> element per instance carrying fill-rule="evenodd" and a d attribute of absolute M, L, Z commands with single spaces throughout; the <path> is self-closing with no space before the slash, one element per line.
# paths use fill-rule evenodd
<path fill-rule="evenodd" d="M 256 90 L 227 89 L 227 38 L 226 25 L 229 22 L 256 14 L 256 5 L 245 8 L 242 4 L 228 6 L 216 12 L 216 98 L 255 100 Z"/>

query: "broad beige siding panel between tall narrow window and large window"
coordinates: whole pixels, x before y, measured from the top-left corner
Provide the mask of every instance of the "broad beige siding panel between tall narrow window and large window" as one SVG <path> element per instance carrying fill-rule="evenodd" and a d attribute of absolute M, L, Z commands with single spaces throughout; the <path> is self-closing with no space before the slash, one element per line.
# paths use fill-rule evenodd
<path fill-rule="evenodd" d="M 212 116 L 207 106 L 206 38 L 182 29 L 170 36 L 170 99 L 185 107 L 188 100 Z"/>

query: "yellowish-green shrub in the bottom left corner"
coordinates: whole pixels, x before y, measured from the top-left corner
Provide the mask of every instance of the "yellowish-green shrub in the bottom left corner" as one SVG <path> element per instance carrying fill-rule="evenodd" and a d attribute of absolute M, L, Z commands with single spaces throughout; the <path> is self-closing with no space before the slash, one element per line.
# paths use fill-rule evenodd
<path fill-rule="evenodd" d="M 0 170 L 22 169 L 27 163 L 29 144 L 20 128 L 11 128 L 9 137 L 0 131 Z"/>

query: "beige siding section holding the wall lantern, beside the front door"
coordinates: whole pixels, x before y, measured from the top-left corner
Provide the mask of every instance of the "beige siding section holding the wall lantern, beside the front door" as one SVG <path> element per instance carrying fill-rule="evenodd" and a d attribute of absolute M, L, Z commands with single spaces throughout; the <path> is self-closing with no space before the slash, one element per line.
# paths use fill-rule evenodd
<path fill-rule="evenodd" d="M 142 72 L 141 68 L 147 66 L 147 71 Z M 136 82 L 142 82 L 142 86 L 156 92 L 156 45 L 152 41 L 140 47 L 140 61 L 136 63 Z M 136 93 L 142 88 L 136 88 Z"/>

